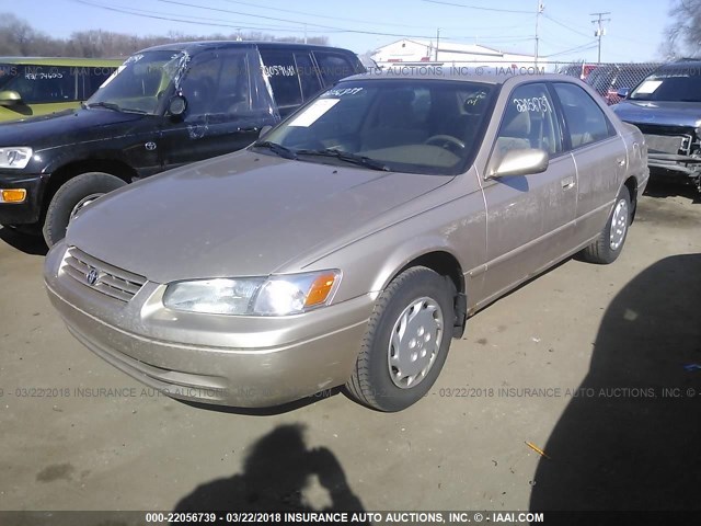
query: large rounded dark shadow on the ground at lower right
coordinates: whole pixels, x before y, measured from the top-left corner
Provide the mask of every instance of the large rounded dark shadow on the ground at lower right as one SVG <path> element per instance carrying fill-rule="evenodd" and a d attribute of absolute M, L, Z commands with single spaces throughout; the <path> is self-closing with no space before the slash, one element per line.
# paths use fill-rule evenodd
<path fill-rule="evenodd" d="M 701 254 L 666 258 L 616 296 L 531 510 L 701 510 L 700 306 Z"/>

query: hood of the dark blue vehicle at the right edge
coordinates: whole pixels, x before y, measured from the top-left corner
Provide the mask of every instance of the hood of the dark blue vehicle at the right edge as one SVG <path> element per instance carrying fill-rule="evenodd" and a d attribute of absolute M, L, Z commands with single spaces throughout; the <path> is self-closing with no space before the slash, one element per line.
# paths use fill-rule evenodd
<path fill-rule="evenodd" d="M 621 121 L 658 126 L 701 126 L 701 103 L 623 101 L 611 106 Z"/>

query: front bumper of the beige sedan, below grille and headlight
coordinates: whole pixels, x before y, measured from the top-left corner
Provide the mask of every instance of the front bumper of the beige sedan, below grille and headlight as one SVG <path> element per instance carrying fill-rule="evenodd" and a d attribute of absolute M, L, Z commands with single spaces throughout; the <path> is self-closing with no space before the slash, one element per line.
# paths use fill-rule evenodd
<path fill-rule="evenodd" d="M 124 305 L 67 276 L 65 250 L 59 243 L 47 255 L 45 283 L 69 331 L 115 367 L 183 400 L 261 408 L 345 384 L 372 311 L 368 295 L 284 318 L 189 315 L 162 307 L 163 286 L 151 283 Z"/>

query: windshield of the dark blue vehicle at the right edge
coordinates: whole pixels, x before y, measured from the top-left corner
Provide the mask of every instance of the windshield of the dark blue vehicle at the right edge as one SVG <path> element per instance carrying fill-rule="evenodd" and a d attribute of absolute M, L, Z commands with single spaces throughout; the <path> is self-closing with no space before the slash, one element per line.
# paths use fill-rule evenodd
<path fill-rule="evenodd" d="M 629 99 L 634 101 L 701 102 L 701 69 L 667 69 L 647 77 Z"/>

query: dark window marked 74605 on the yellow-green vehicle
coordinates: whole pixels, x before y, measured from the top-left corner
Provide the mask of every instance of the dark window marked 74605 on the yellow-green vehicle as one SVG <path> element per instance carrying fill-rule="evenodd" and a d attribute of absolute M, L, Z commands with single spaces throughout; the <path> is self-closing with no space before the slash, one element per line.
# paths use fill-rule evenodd
<path fill-rule="evenodd" d="M 76 101 L 76 76 L 61 66 L 20 66 L 3 89 L 16 91 L 27 104 Z"/>

